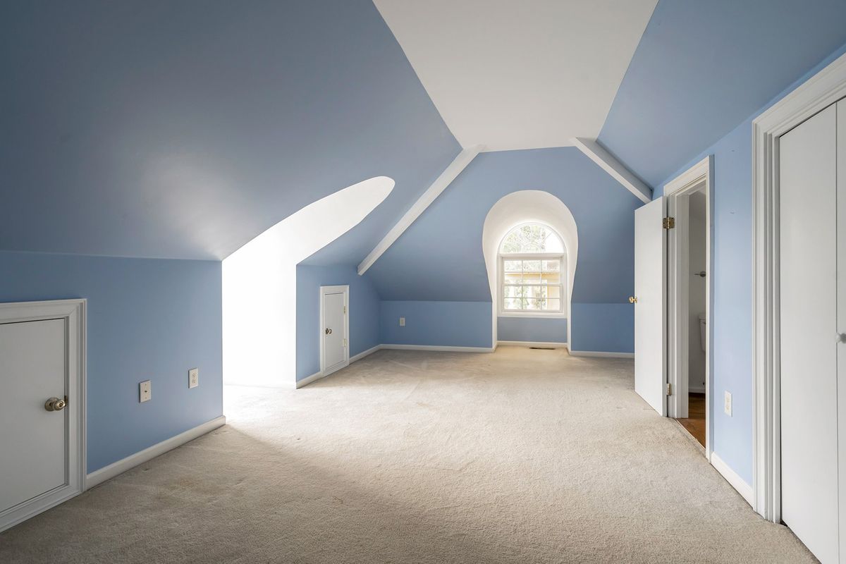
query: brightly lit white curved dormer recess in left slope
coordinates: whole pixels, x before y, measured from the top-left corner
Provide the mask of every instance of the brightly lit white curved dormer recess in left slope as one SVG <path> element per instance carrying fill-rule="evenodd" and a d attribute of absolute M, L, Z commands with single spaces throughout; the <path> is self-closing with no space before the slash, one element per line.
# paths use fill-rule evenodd
<path fill-rule="evenodd" d="M 393 186 L 380 176 L 338 190 L 223 260 L 225 383 L 295 385 L 297 264 L 358 225 Z"/>

